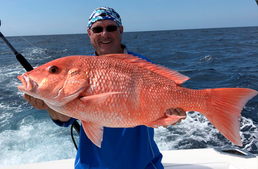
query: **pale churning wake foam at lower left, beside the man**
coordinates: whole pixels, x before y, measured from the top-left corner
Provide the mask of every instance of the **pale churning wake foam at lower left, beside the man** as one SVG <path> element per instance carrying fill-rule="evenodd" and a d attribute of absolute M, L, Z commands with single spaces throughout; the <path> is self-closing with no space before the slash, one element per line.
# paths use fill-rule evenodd
<path fill-rule="evenodd" d="M 0 158 L 0 167 L 75 158 L 70 128 L 59 127 L 50 118 L 35 120 L 32 116 L 17 125 L 17 130 L 0 133 L 0 154 L 5 154 Z"/>

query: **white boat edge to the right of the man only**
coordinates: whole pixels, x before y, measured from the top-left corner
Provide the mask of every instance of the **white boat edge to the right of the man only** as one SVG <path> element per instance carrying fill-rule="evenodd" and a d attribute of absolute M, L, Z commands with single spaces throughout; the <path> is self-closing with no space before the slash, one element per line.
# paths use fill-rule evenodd
<path fill-rule="evenodd" d="M 258 169 L 258 157 L 220 154 L 213 148 L 162 151 L 166 169 Z"/>

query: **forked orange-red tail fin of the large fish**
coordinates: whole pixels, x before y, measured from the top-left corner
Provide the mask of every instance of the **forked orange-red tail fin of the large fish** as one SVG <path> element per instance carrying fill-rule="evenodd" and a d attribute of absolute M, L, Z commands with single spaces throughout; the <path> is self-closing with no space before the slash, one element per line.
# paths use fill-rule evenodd
<path fill-rule="evenodd" d="M 207 119 L 227 139 L 238 146 L 242 146 L 240 138 L 240 116 L 244 105 L 257 91 L 243 88 L 212 89 L 213 99 L 211 111 L 204 113 Z"/>

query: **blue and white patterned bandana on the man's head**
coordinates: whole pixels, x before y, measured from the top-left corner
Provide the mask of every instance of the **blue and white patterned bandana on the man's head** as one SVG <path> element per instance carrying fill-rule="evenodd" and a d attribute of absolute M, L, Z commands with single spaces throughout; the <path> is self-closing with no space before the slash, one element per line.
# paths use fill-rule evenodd
<path fill-rule="evenodd" d="M 115 21 L 118 26 L 121 26 L 121 18 L 115 10 L 108 7 L 101 7 L 97 8 L 93 11 L 93 13 L 90 16 L 89 22 L 88 22 L 88 28 L 92 26 L 94 22 L 100 21 L 100 20 L 111 20 Z"/>

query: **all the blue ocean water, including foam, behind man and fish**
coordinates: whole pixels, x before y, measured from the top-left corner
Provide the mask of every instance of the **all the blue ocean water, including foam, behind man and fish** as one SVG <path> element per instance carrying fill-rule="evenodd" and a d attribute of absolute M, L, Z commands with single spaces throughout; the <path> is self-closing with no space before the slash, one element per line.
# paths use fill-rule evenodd
<path fill-rule="evenodd" d="M 4 34 L 4 32 L 2 32 Z M 91 55 L 87 34 L 7 37 L 33 67 L 68 55 Z M 258 27 L 125 32 L 128 50 L 190 77 L 183 87 L 250 88 L 258 91 Z M 0 40 L 0 166 L 74 158 L 70 127 L 55 125 L 17 90 L 25 72 Z M 248 152 L 258 155 L 258 97 L 242 110 L 240 135 Z M 75 131 L 74 131 L 75 132 Z M 78 141 L 78 136 L 75 134 Z M 180 124 L 155 129 L 160 150 L 237 147 L 198 112 Z"/>

